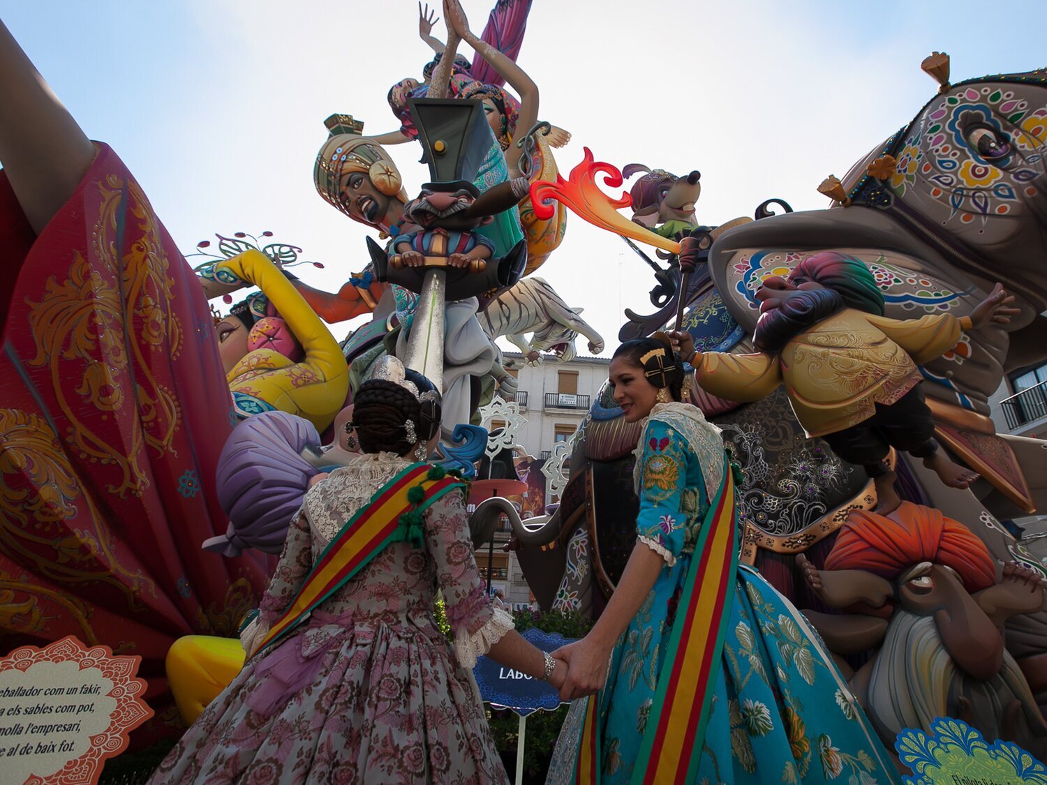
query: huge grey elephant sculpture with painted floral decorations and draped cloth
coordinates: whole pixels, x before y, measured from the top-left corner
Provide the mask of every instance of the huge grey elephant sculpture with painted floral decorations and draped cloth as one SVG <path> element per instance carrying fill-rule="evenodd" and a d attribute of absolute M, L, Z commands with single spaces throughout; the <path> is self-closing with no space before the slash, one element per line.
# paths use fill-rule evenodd
<path fill-rule="evenodd" d="M 948 489 L 918 463 L 892 459 L 903 497 L 960 521 L 995 563 L 1044 575 L 998 518 L 1047 509 L 1040 457 L 1047 443 L 997 434 L 987 401 L 1005 373 L 1047 359 L 1040 315 L 1047 309 L 1047 70 L 955 86 L 940 58 L 927 70 L 943 83 L 939 94 L 842 182 L 823 184 L 836 198 L 830 208 L 736 224 L 715 238 L 706 269 L 677 295 L 688 304 L 684 327 L 698 350 L 751 352 L 760 282 L 823 250 L 865 262 L 895 318 L 967 315 L 1001 282 L 1021 314 L 1005 329 L 973 332 L 921 367 L 937 440 L 982 479 L 970 491 Z M 630 313 L 620 337 L 661 329 L 674 312 L 670 304 L 649 317 Z M 838 612 L 803 580 L 797 556 L 823 567 L 848 515 L 875 506 L 872 484 L 823 441 L 806 439 L 781 388 L 743 405 L 703 391 L 692 401 L 723 430 L 744 470 L 741 558 L 799 607 Z M 624 423 L 602 390 L 576 436 L 559 508 L 541 528 L 517 526 L 520 565 L 543 607 L 597 614 L 612 590 L 634 541 L 638 439 L 638 426 Z M 1022 672 L 1047 672 L 1042 609 L 1006 620 L 1005 640 Z M 1029 687 L 1047 710 L 1047 679 Z"/>

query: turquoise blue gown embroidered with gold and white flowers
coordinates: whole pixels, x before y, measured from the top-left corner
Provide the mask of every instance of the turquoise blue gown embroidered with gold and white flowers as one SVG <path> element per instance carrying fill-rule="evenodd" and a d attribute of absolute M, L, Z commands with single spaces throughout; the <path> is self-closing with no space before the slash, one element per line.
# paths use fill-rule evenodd
<path fill-rule="evenodd" d="M 694 544 L 723 478 L 719 429 L 694 406 L 654 407 L 637 448 L 640 542 L 665 566 L 611 655 L 600 693 L 601 783 L 638 761 Z M 898 776 L 817 633 L 771 584 L 739 565 L 697 782 L 894 783 Z M 576 701 L 547 783 L 572 782 L 584 701 Z"/>

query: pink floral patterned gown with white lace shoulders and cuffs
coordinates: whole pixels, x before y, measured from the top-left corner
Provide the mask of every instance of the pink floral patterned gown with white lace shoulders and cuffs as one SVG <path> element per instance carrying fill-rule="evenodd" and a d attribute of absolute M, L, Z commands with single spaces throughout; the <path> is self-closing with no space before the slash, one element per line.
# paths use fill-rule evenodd
<path fill-rule="evenodd" d="M 406 466 L 392 453 L 361 455 L 309 490 L 246 646 L 346 521 Z M 388 545 L 251 659 L 151 782 L 508 782 L 470 671 L 512 620 L 484 591 L 462 494 L 436 501 L 424 530 L 423 550 Z M 453 645 L 433 618 L 438 588 Z"/>

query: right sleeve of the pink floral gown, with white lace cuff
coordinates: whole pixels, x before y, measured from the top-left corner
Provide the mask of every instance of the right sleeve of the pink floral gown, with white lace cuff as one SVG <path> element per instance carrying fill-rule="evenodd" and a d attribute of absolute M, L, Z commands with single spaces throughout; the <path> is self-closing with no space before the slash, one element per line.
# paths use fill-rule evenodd
<path fill-rule="evenodd" d="M 463 668 L 513 629 L 512 616 L 492 604 L 484 590 L 469 540 L 462 494 L 448 493 L 426 511 L 425 542 L 437 566 L 447 621 L 454 633 L 454 653 Z"/>

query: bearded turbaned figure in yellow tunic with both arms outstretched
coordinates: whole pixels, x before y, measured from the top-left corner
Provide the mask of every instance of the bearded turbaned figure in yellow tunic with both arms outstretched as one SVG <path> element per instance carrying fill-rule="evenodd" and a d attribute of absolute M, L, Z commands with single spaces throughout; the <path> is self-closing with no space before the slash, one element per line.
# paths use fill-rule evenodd
<path fill-rule="evenodd" d="M 682 267 L 689 263 L 689 247 L 685 241 Z M 952 488 L 967 488 L 978 478 L 938 449 L 917 366 L 955 346 L 964 331 L 1009 321 L 1017 311 L 1002 286 L 970 316 L 891 319 L 865 264 L 824 251 L 805 259 L 787 278 L 765 278 L 756 298 L 755 354 L 693 352 L 689 335 L 673 334 L 703 389 L 757 401 L 783 383 L 807 436 L 821 436 L 875 480 L 881 512 L 900 502 L 886 464 L 891 447 L 922 458 Z"/>

